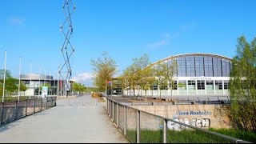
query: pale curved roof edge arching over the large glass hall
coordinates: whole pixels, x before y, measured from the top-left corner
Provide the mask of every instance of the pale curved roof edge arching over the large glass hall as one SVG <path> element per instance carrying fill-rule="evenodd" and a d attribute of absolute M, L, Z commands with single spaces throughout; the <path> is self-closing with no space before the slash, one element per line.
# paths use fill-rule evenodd
<path fill-rule="evenodd" d="M 163 58 L 161 60 L 158 60 L 157 62 L 153 62 L 152 64 L 150 64 L 150 66 L 154 66 L 158 62 L 164 62 L 166 60 L 180 58 L 180 57 L 186 57 L 186 56 L 210 56 L 210 57 L 214 57 L 214 58 L 222 58 L 222 59 L 225 59 L 225 60 L 228 60 L 228 61 L 232 60 L 232 58 L 224 57 L 224 56 L 218 55 L 218 54 L 190 53 L 190 54 L 178 54 L 178 55 L 170 56 L 170 57 L 167 57 L 167 58 Z M 146 67 L 148 67 L 148 66 L 146 66 Z"/>

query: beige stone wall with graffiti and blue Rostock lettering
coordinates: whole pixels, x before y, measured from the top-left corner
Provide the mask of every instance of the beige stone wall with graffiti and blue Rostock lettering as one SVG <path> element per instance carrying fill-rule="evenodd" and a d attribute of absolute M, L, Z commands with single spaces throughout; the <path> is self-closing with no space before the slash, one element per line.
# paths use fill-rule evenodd
<path fill-rule="evenodd" d="M 172 118 L 178 122 L 183 122 L 191 126 L 201 128 L 227 128 L 228 118 L 218 113 L 220 105 L 169 105 L 169 106 L 132 106 L 138 110 L 146 111 L 150 114 Z M 134 117 L 134 114 L 131 114 Z M 148 123 L 151 128 L 158 127 L 158 118 L 142 118 L 141 123 Z M 135 117 L 136 118 L 136 117 Z M 154 121 L 154 122 L 153 122 Z M 129 122 L 129 121 L 128 121 Z M 141 124 L 143 126 L 143 124 Z M 155 126 L 154 126 L 155 125 Z"/>

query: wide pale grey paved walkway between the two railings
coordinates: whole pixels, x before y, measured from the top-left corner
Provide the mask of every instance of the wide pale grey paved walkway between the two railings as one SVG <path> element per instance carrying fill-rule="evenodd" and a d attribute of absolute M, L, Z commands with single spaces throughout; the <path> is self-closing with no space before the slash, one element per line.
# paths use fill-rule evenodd
<path fill-rule="evenodd" d="M 58 98 L 57 106 L 0 127 L 0 143 L 127 143 L 90 95 Z"/>

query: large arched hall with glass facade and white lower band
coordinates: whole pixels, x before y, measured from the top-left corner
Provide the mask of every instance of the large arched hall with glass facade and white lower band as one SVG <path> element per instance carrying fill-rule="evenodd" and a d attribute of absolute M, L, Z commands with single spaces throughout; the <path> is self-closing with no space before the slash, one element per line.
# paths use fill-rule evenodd
<path fill-rule="evenodd" d="M 178 70 L 174 74 L 173 90 L 170 90 L 170 86 L 154 84 L 147 95 L 159 95 L 160 90 L 162 95 L 229 95 L 231 58 L 217 54 L 194 53 L 179 54 L 158 62 L 164 62 L 167 66 L 177 62 Z M 158 62 L 150 66 L 158 69 Z"/>

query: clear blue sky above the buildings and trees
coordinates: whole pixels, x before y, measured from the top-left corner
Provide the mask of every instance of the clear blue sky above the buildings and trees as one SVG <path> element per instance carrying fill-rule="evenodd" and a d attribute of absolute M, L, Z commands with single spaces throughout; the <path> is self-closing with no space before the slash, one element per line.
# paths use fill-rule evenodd
<path fill-rule="evenodd" d="M 55 75 L 64 62 L 60 26 L 62 0 L 8 0 L 0 5 L 0 68 L 22 74 Z M 256 36 L 255 0 L 73 0 L 71 44 L 73 78 L 93 86 L 90 59 L 106 51 L 118 74 L 133 58 L 148 54 L 151 62 L 186 53 L 233 58 L 237 38 Z M 117 75 L 118 75 L 117 74 Z"/>

